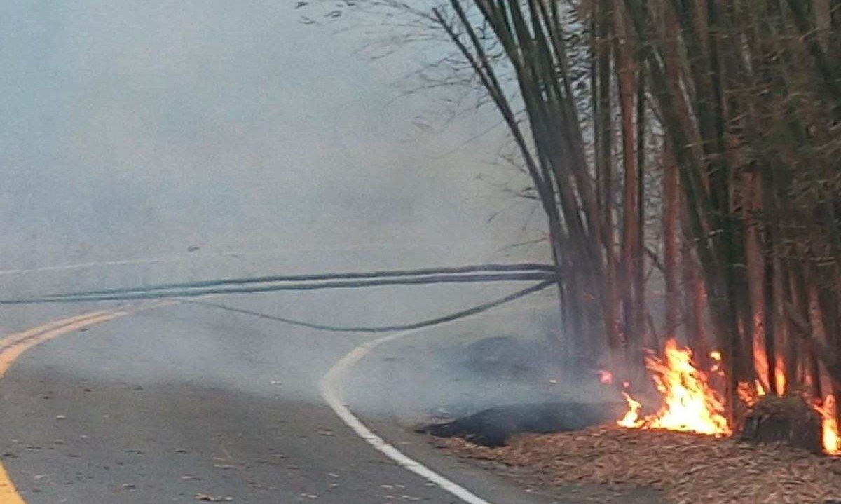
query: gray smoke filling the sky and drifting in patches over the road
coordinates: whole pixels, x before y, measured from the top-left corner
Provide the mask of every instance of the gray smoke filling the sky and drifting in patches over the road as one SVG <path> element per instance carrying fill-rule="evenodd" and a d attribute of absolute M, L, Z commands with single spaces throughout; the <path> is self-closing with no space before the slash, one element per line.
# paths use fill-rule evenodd
<path fill-rule="evenodd" d="M 494 128 L 493 110 L 465 109 L 435 124 L 443 106 L 435 93 L 401 96 L 394 85 L 412 70 L 410 59 L 357 56 L 367 35 L 300 24 L 293 7 L 286 0 L 0 3 L 0 270 L 118 262 L 7 271 L 3 292 L 547 259 L 542 246 L 505 248 L 540 236 L 533 202 L 480 180 L 524 183 L 499 166 L 505 131 Z M 431 130 L 415 125 L 430 121 Z M 200 252 L 188 253 L 191 246 Z M 220 252 L 237 253 L 214 255 Z M 142 262 L 154 257 L 168 259 Z M 140 262 L 119 263 L 130 260 Z M 519 288 L 378 289 L 352 300 L 345 292 L 263 295 L 232 303 L 306 321 L 378 325 L 440 316 Z M 551 302 L 552 294 L 541 299 Z M 7 310 L 3 325 L 23 325 L 34 313 L 27 310 L 34 308 Z M 286 386 L 302 395 L 314 393 L 326 365 L 369 338 L 336 336 L 335 345 L 314 347 L 312 332 L 278 328 L 288 337 L 261 339 L 263 329 L 252 329 L 257 323 L 247 317 L 202 310 L 185 313 L 246 338 L 256 346 L 251 352 L 279 356 Z M 473 326 L 472 337 L 540 337 L 546 328 L 509 322 Z M 87 369 L 86 357 L 68 352 L 53 365 L 130 377 L 151 336 L 130 322 L 117 326 L 132 335 L 124 363 Z M 210 375 L 250 391 L 267 387 L 267 377 L 252 376 L 238 360 L 241 342 L 203 345 L 202 327 L 191 318 L 179 337 L 157 342 L 156 379 Z M 283 361 L 293 348 L 308 357 Z M 404 368 L 410 382 L 458 365 L 421 350 L 415 358 L 428 359 Z M 368 380 L 368 397 L 356 401 L 381 410 L 376 384 L 393 378 L 389 364 L 372 368 L 360 378 Z M 459 379 L 462 399 L 480 387 L 499 391 L 478 375 Z M 436 401 L 414 399 L 410 405 L 404 396 L 401 404 L 416 411 Z"/>

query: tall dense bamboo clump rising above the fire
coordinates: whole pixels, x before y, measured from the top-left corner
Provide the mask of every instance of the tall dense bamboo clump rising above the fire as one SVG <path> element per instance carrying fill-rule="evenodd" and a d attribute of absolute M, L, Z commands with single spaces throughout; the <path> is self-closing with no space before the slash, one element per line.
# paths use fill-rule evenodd
<path fill-rule="evenodd" d="M 841 3 L 361 3 L 446 35 L 505 120 L 568 358 L 633 374 L 680 337 L 722 353 L 731 406 L 841 397 Z"/>

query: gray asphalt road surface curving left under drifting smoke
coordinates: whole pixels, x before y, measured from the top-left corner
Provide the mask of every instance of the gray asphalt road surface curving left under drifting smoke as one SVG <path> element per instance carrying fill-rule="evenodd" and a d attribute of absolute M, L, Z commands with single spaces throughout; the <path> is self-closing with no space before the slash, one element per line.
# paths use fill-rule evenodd
<path fill-rule="evenodd" d="M 357 312 L 338 299 L 322 300 L 326 313 Z M 291 301 L 268 295 L 236 302 L 294 312 Z M 34 325 L 81 309 L 27 309 L 8 320 L 20 326 L 39 316 Z M 199 494 L 233 502 L 457 502 L 373 450 L 321 401 L 319 379 L 372 338 L 195 305 L 56 338 L 0 379 L 3 464 L 29 504 L 196 501 Z M 419 388 L 412 380 L 430 369 L 394 370 L 410 348 L 384 348 L 361 363 L 342 384 L 351 408 L 356 401 L 383 438 L 488 501 L 550 501 L 436 454 L 399 428 L 396 416 L 436 401 L 429 387 L 424 401 L 410 400 Z"/>

